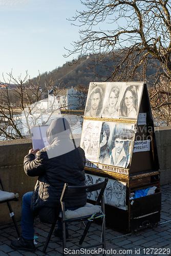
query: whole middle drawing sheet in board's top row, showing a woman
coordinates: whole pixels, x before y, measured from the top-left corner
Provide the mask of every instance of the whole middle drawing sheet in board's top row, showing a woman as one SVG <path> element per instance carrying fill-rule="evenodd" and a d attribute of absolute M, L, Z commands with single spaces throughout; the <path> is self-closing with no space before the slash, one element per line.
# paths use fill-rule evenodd
<path fill-rule="evenodd" d="M 119 102 L 124 83 L 108 83 L 105 93 L 102 117 L 119 118 Z"/>

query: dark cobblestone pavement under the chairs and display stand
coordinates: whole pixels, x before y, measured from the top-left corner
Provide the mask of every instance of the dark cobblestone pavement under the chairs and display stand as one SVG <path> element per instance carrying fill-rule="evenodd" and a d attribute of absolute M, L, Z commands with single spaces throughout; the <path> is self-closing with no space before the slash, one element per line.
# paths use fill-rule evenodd
<path fill-rule="evenodd" d="M 164 185 L 161 187 L 162 193 L 162 210 L 161 210 L 161 220 L 159 225 L 145 228 L 135 233 L 123 234 L 121 232 L 115 231 L 109 227 L 106 227 L 106 255 L 171 255 L 171 184 Z M 20 230 L 20 223 L 18 222 Z M 58 241 L 58 238 L 52 235 L 51 241 L 47 248 L 46 253 L 42 252 L 44 243 L 46 241 L 48 231 L 50 230 L 50 225 L 45 225 L 36 221 L 35 224 L 35 236 L 38 238 L 35 240 L 37 243 L 35 252 L 26 252 L 23 250 L 13 250 L 10 247 L 12 240 L 17 238 L 17 233 L 15 227 L 12 224 L 0 226 L 0 256 L 10 255 L 10 256 L 32 256 L 32 255 L 61 255 L 62 243 Z M 80 232 L 80 223 L 76 223 L 69 226 L 69 233 L 73 236 L 75 235 L 75 230 Z M 83 242 L 83 246 L 96 244 L 97 241 L 101 240 L 101 225 L 92 223 L 89 233 Z M 74 238 L 67 242 L 68 254 L 77 254 L 78 251 L 73 249 L 77 248 L 75 246 L 78 238 Z M 101 247 L 98 247 L 101 249 Z M 72 250 L 72 251 L 69 251 Z M 102 255 L 102 253 L 97 248 L 90 248 L 81 251 L 80 255 Z M 67 254 L 66 254 L 67 255 Z"/>

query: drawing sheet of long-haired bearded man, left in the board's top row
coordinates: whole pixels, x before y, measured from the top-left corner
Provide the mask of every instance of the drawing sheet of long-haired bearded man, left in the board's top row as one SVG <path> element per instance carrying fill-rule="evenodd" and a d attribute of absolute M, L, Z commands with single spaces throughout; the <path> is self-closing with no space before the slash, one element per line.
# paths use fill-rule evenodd
<path fill-rule="evenodd" d="M 101 117 L 106 83 L 90 83 L 84 116 Z"/>

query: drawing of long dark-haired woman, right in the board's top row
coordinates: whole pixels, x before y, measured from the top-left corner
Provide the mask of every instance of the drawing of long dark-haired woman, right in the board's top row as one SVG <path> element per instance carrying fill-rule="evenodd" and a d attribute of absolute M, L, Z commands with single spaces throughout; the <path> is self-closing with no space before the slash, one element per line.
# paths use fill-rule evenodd
<path fill-rule="evenodd" d="M 119 116 L 127 118 L 137 118 L 140 96 L 143 86 L 127 85 L 123 86 L 122 99 L 119 107 Z"/>

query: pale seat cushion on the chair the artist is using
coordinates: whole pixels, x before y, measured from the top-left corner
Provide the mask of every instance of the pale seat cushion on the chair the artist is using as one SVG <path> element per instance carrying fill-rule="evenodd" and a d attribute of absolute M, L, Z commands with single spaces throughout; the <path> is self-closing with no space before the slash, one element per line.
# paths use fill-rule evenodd
<path fill-rule="evenodd" d="M 75 218 L 80 218 L 88 215 L 93 215 L 98 212 L 101 212 L 100 205 L 93 205 L 93 204 L 87 203 L 83 207 L 80 207 L 76 210 L 66 210 L 65 217 L 66 219 L 75 219 Z M 61 218 L 61 212 L 59 214 L 59 217 Z"/>

